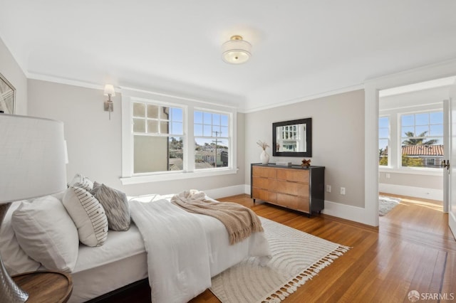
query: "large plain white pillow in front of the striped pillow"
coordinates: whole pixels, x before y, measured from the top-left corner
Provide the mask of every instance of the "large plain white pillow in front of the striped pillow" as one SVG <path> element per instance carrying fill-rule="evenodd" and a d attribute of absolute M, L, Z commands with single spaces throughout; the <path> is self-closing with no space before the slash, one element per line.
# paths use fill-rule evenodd
<path fill-rule="evenodd" d="M 71 272 L 78 260 L 78 230 L 53 196 L 22 202 L 11 223 L 21 248 L 48 270 Z"/>

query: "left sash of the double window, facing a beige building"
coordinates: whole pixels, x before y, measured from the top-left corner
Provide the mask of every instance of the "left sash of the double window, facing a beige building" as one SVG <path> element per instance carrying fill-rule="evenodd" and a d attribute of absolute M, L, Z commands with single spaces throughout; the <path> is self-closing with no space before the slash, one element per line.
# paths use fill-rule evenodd
<path fill-rule="evenodd" d="M 133 173 L 182 171 L 183 110 L 133 102 Z"/>

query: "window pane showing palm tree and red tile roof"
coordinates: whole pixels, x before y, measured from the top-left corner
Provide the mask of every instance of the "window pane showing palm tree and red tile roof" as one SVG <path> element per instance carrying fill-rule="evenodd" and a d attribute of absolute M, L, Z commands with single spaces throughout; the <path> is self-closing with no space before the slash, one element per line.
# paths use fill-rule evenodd
<path fill-rule="evenodd" d="M 402 166 L 438 168 L 443 157 L 443 112 L 400 115 Z"/>

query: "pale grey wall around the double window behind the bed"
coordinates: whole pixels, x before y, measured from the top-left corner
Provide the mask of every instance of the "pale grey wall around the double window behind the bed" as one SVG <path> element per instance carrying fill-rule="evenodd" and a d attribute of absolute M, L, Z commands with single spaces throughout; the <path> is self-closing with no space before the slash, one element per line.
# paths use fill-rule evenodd
<path fill-rule="evenodd" d="M 237 174 L 123 186 L 119 179 L 122 172 L 121 98 L 120 94 L 113 97 L 114 112 L 109 120 L 108 112 L 103 110 L 103 101 L 106 99 L 103 90 L 28 80 L 28 114 L 58 119 L 65 123 L 68 180 L 71 181 L 76 173 L 81 173 L 132 196 L 177 193 L 189 188 L 204 191 L 229 188 L 220 193 L 223 196 L 244 191 L 243 114 L 237 117 Z M 217 198 L 217 193 L 214 195 Z"/>

